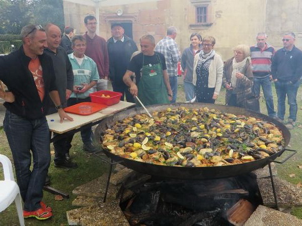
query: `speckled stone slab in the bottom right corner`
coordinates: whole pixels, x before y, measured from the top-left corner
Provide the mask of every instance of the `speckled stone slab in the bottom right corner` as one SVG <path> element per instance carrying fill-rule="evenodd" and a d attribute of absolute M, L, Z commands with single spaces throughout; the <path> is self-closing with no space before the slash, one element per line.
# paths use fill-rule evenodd
<path fill-rule="evenodd" d="M 244 226 L 275 226 L 290 225 L 300 226 L 302 220 L 288 213 L 283 213 L 275 209 L 259 205 Z"/>

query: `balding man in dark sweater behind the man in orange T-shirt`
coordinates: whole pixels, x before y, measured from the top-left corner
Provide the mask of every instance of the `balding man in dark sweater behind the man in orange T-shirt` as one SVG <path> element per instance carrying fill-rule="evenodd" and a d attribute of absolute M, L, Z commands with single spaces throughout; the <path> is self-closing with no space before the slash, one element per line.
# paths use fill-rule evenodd
<path fill-rule="evenodd" d="M 51 57 L 55 73 L 55 83 L 59 92 L 62 107 L 67 106 L 67 99 L 69 98 L 73 88 L 73 72 L 72 66 L 68 56 L 60 46 L 61 30 L 54 24 L 47 24 L 45 26 L 47 35 L 48 48 L 44 49 L 44 53 Z M 50 106 L 47 114 L 53 114 L 57 110 L 54 105 Z M 53 142 L 54 146 L 54 166 L 60 168 L 77 168 L 77 163 L 70 160 L 69 149 L 65 146 L 65 139 Z"/>

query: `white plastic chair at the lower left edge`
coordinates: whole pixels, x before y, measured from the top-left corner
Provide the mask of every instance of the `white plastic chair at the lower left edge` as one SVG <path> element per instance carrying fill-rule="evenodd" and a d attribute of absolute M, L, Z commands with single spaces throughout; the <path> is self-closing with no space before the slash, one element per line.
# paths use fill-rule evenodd
<path fill-rule="evenodd" d="M 15 200 L 20 225 L 24 226 L 20 189 L 14 179 L 12 163 L 8 157 L 1 154 L 0 162 L 4 172 L 4 180 L 0 180 L 0 212 L 9 207 Z"/>

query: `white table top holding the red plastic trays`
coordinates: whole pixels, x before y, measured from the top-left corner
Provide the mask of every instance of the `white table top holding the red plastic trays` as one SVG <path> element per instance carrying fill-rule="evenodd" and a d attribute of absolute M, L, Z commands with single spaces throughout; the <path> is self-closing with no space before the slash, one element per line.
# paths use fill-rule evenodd
<path fill-rule="evenodd" d="M 60 117 L 57 112 L 46 116 L 46 119 L 47 119 L 47 123 L 49 126 L 49 130 L 51 132 L 63 134 L 70 130 L 78 129 L 81 126 L 84 126 L 86 124 L 93 123 L 93 122 L 96 122 L 101 119 L 105 119 L 106 117 L 108 117 L 116 112 L 122 111 L 133 105 L 135 105 L 135 103 L 120 101 L 117 104 L 108 106 L 108 107 L 106 107 L 98 112 L 95 112 L 94 114 L 88 115 L 88 116 L 81 116 L 81 115 L 67 113 L 68 116 L 73 118 L 73 121 L 64 120 L 63 123 L 60 123 Z"/>

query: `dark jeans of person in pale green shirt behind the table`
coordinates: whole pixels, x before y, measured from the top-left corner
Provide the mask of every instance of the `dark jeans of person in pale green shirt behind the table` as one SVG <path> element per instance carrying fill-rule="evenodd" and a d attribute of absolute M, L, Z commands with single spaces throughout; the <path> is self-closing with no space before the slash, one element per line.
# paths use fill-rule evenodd
<path fill-rule="evenodd" d="M 84 99 L 80 99 L 80 98 L 69 98 L 67 100 L 67 105 L 71 106 L 77 103 L 82 103 L 82 102 L 90 102 L 91 99 L 90 97 L 84 98 Z M 92 144 L 92 140 L 93 140 L 93 133 L 92 133 L 92 129 L 91 129 L 91 125 L 86 125 L 81 127 L 81 138 L 83 141 L 83 144 Z M 69 152 L 69 149 L 71 148 L 71 141 L 73 139 L 74 134 L 71 134 L 69 136 L 67 136 L 65 138 L 65 143 L 63 143 L 64 141 L 61 141 L 61 144 L 63 144 L 61 146 L 61 148 L 65 148 L 65 150 L 67 152 Z M 60 140 L 64 140 L 64 139 L 60 139 Z M 64 147 L 65 146 L 65 147 Z"/>

